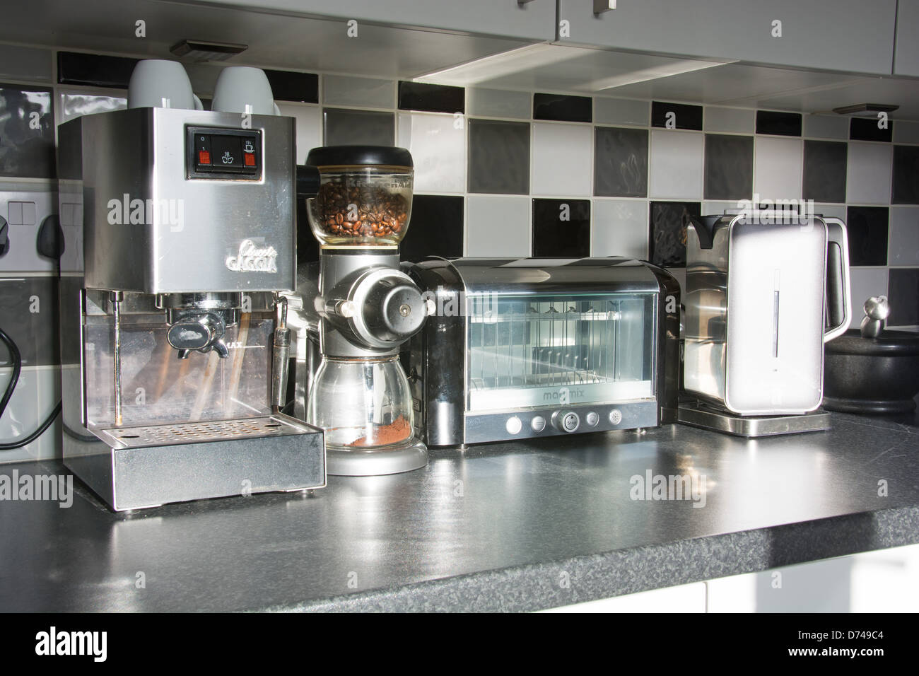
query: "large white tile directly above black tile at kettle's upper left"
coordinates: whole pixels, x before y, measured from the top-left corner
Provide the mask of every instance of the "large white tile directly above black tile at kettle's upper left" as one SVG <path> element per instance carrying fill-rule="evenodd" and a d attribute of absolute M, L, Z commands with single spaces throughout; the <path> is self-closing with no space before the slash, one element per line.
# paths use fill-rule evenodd
<path fill-rule="evenodd" d="M 701 199 L 704 143 L 705 135 L 698 132 L 652 130 L 649 196 Z"/>

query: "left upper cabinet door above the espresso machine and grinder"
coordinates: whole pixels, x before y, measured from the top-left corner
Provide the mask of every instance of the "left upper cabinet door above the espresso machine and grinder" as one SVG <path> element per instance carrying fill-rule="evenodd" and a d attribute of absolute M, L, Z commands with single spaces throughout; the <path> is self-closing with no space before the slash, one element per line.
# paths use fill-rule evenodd
<path fill-rule="evenodd" d="M 187 1 L 187 0 L 186 0 Z M 272 12 L 523 40 L 555 39 L 556 0 L 202 0 Z"/>

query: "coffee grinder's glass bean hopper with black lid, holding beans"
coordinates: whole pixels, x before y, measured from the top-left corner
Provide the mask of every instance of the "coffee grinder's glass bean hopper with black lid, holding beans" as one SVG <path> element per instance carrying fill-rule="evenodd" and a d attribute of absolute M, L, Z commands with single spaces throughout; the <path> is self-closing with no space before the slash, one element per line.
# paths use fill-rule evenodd
<path fill-rule="evenodd" d="M 330 145 L 313 148 L 306 163 L 319 170 L 319 192 L 306 207 L 320 246 L 399 246 L 412 216 L 414 168 L 407 150 Z"/>

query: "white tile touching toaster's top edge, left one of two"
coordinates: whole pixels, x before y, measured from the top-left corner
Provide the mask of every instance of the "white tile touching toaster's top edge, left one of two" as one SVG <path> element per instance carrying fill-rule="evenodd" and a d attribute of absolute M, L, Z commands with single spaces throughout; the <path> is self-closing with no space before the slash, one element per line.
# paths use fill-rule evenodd
<path fill-rule="evenodd" d="M 466 200 L 466 256 L 527 257 L 532 232 L 528 197 Z"/>

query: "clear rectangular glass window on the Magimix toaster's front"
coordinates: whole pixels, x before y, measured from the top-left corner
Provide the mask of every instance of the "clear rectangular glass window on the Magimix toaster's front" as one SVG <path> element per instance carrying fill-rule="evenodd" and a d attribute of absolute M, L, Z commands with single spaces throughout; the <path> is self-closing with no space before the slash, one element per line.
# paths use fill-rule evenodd
<path fill-rule="evenodd" d="M 654 396 L 654 293 L 472 294 L 467 410 Z"/>

